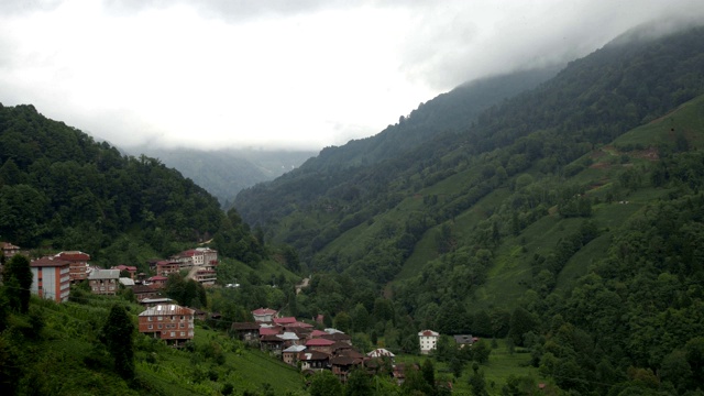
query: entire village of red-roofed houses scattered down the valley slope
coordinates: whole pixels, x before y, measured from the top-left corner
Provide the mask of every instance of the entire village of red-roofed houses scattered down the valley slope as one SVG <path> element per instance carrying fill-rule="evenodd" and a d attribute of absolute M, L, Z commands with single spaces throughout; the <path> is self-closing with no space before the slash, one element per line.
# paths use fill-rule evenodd
<path fill-rule="evenodd" d="M 20 248 L 0 242 L 6 257 L 20 253 Z M 162 295 L 168 275 L 187 272 L 187 277 L 204 286 L 216 286 L 218 252 L 209 248 L 196 248 L 180 252 L 168 260 L 150 262 L 156 275 L 147 277 L 135 266 L 117 265 L 99 268 L 89 264 L 90 255 L 80 251 L 65 251 L 30 261 L 33 275 L 31 292 L 42 298 L 64 302 L 69 299 L 70 285 L 87 280 L 90 292 L 97 295 L 117 295 L 120 287 L 131 289 L 135 299 L 145 308 L 139 314 L 139 332 L 160 339 L 174 348 L 184 346 L 195 336 L 195 321 L 207 319 L 207 312 L 182 307 Z M 311 322 L 296 317 L 284 317 L 271 308 L 251 311 L 252 320 L 233 322 L 230 333 L 251 348 L 258 348 L 286 364 L 298 367 L 304 374 L 332 372 L 345 383 L 352 370 L 370 373 L 385 371 L 402 384 L 405 364 L 396 364 L 395 354 L 384 348 L 362 353 L 352 344 L 352 338 L 333 328 L 323 328 L 318 317 Z M 322 330 L 321 330 L 322 329 Z M 433 330 L 418 332 L 420 354 L 436 350 L 440 333 Z M 477 341 L 469 334 L 454 336 L 459 348 Z"/>

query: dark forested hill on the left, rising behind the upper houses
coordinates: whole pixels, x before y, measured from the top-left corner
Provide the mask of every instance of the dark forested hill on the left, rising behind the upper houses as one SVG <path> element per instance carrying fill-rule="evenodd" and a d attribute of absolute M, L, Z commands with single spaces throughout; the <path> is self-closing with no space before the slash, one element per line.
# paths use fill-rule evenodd
<path fill-rule="evenodd" d="M 213 246 L 230 257 L 263 255 L 239 216 L 228 218 L 193 180 L 158 160 L 123 156 L 31 105 L 0 106 L 0 235 L 23 249 L 142 265 L 217 237 Z"/>

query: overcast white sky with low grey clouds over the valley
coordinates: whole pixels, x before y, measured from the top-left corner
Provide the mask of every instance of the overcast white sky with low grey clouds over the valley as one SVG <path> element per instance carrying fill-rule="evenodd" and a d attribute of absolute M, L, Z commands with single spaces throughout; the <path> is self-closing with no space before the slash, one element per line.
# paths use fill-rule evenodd
<path fill-rule="evenodd" d="M 702 0 L 0 0 L 0 102 L 119 147 L 320 150 Z"/>

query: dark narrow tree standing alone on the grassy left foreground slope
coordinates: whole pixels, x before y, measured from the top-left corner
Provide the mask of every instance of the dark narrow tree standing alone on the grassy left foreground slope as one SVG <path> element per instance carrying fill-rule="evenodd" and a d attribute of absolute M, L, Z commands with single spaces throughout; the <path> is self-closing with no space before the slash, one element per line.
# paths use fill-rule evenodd
<path fill-rule="evenodd" d="M 120 305 L 113 305 L 102 327 L 102 342 L 114 360 L 114 371 L 124 380 L 134 377 L 134 323 Z"/>

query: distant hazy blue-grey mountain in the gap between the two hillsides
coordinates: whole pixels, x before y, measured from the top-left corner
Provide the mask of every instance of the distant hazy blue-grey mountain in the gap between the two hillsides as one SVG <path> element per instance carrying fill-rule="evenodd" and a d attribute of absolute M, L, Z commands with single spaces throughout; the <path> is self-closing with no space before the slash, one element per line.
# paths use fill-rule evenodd
<path fill-rule="evenodd" d="M 316 155 L 312 151 L 202 151 L 150 146 L 131 147 L 129 152 L 138 156 L 145 154 L 158 158 L 212 194 L 224 208 L 230 207 L 230 202 L 243 188 L 272 180 Z"/>

